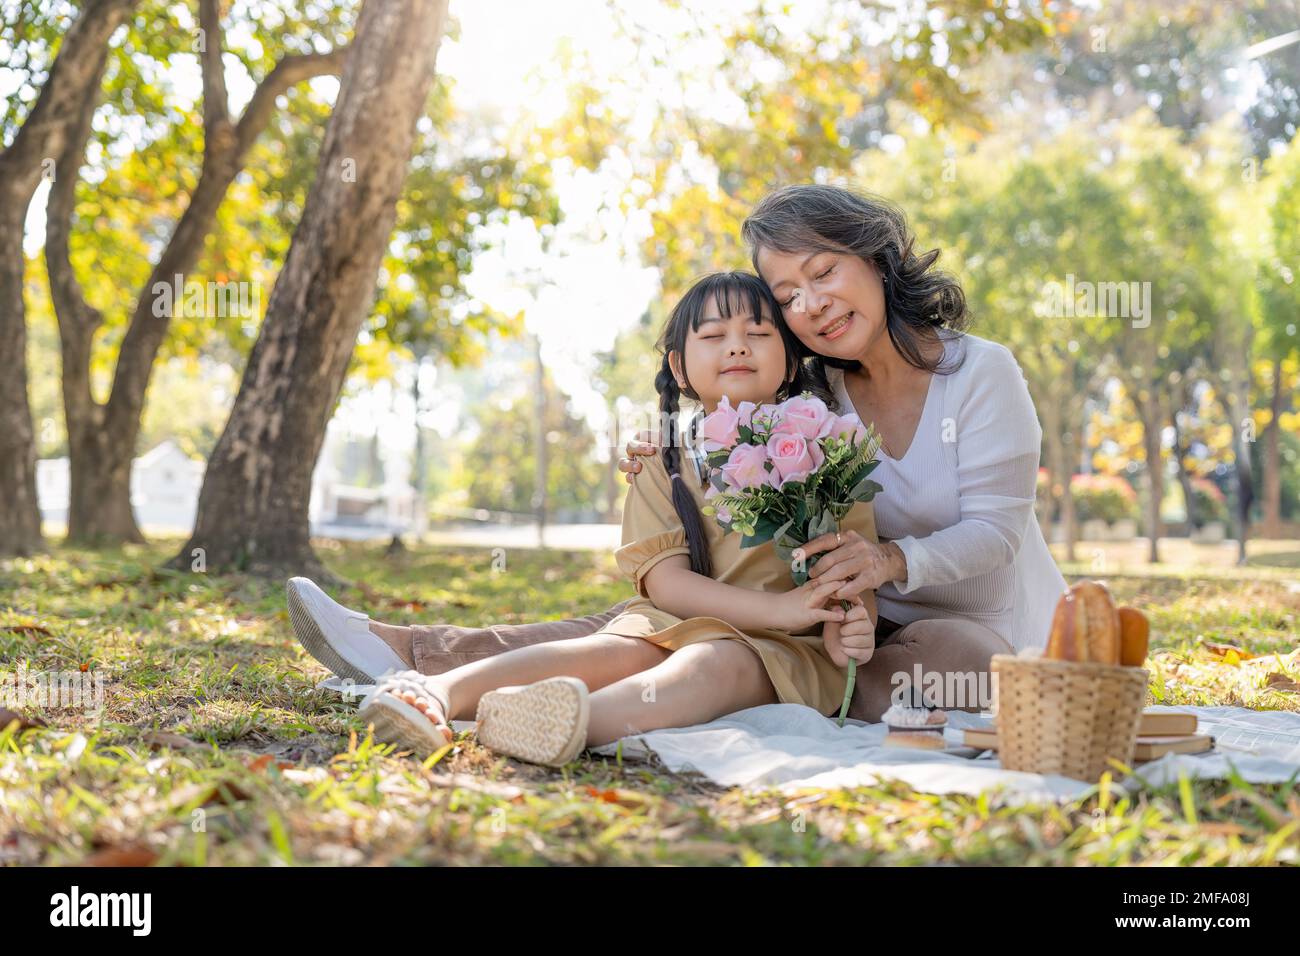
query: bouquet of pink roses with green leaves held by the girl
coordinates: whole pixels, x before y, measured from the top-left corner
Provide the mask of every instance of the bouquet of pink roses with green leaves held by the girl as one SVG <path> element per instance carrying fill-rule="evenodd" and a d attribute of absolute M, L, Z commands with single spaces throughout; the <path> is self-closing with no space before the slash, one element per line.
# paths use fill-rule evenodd
<path fill-rule="evenodd" d="M 741 548 L 772 541 L 786 562 L 800 545 L 837 532 L 854 503 L 881 490 L 867 477 L 880 463 L 874 431 L 809 393 L 780 405 L 741 402 L 738 408 L 723 398 L 697 437 L 710 470 L 705 514 L 725 531 L 738 531 Z M 790 574 L 796 584 L 809 579 L 805 566 L 792 563 Z M 841 726 L 855 670 L 850 659 Z"/>

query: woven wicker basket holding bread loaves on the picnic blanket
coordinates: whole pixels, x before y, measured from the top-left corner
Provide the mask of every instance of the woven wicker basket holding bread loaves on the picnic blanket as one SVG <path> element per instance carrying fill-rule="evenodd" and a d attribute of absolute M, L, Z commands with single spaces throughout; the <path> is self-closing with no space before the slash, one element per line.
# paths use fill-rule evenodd
<path fill-rule="evenodd" d="M 994 654 L 992 670 L 1004 767 L 1096 780 L 1108 758 L 1132 766 L 1145 669 Z"/>

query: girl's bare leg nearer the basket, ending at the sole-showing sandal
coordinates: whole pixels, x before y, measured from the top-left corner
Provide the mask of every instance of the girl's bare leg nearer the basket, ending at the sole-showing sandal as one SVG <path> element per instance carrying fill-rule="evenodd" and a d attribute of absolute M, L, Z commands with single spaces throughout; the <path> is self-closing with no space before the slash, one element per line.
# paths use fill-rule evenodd
<path fill-rule="evenodd" d="M 758 652 L 728 639 L 688 644 L 650 670 L 595 691 L 590 701 L 586 745 L 601 747 L 629 734 L 776 704 L 777 696 Z"/>

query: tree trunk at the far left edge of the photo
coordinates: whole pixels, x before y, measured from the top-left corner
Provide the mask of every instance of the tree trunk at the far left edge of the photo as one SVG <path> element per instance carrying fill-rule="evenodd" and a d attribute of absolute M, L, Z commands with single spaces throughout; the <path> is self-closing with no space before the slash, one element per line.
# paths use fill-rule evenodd
<path fill-rule="evenodd" d="M 82 4 L 40 96 L 9 148 L 0 152 L 0 554 L 30 554 L 43 545 L 22 298 L 27 207 L 66 148 L 87 91 L 99 88 L 108 39 L 134 5 L 135 0 Z"/>

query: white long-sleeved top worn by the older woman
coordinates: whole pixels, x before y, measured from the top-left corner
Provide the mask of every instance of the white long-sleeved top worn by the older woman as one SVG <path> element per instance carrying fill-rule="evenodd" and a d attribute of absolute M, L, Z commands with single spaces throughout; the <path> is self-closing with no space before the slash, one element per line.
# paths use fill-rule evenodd
<path fill-rule="evenodd" d="M 1017 650 L 1044 646 L 1065 579 L 1034 514 L 1043 428 L 1015 356 L 971 334 L 945 338 L 950 375 L 930 381 L 915 437 L 901 460 L 872 472 L 876 528 L 907 558 L 907 580 L 876 592 L 880 617 L 907 624 L 965 618 Z M 841 411 L 844 373 L 828 369 Z"/>

